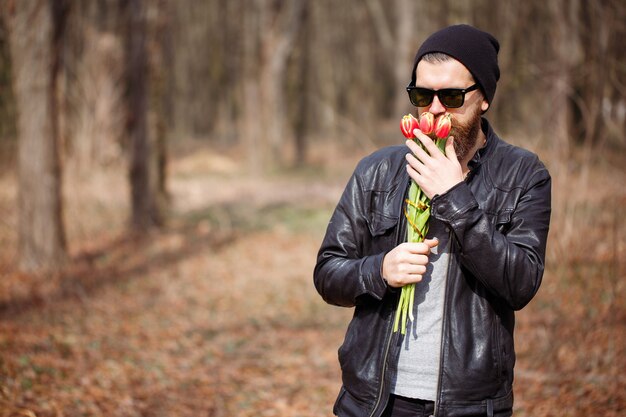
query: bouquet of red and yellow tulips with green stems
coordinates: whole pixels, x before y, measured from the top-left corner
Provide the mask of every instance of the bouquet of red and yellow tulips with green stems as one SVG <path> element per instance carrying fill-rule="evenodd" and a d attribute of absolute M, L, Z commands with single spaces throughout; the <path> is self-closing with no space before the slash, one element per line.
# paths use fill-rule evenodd
<path fill-rule="evenodd" d="M 400 121 L 400 130 L 407 139 L 416 139 L 413 130 L 419 129 L 424 134 L 433 133 L 437 137 L 435 143 L 437 147 L 444 152 L 446 138 L 450 134 L 452 127 L 452 116 L 449 113 L 440 115 L 435 120 L 435 116 L 430 112 L 424 112 L 417 120 L 413 115 L 407 114 Z M 422 146 L 419 140 L 416 142 Z M 409 188 L 409 196 L 405 199 L 406 206 L 404 215 L 408 222 L 407 242 L 423 242 L 428 233 L 428 219 L 430 218 L 430 199 L 422 192 L 420 187 L 411 181 Z M 396 317 L 394 320 L 393 331 L 397 332 L 398 328 L 402 334 L 406 333 L 407 318 L 411 321 L 415 319 L 413 316 L 413 300 L 415 298 L 415 284 L 408 284 L 402 287 Z M 401 326 L 400 326 L 401 324 Z"/>

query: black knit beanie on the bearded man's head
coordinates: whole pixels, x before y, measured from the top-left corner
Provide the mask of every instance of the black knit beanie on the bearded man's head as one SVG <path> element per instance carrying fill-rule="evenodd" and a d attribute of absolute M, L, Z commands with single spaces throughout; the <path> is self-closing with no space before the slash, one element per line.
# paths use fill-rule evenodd
<path fill-rule="evenodd" d="M 442 52 L 465 65 L 491 104 L 500 78 L 499 50 L 498 40 L 487 32 L 469 25 L 448 26 L 430 35 L 417 51 L 411 85 L 415 85 L 415 69 L 422 57 L 431 52 Z"/>

